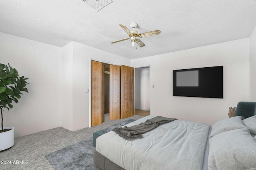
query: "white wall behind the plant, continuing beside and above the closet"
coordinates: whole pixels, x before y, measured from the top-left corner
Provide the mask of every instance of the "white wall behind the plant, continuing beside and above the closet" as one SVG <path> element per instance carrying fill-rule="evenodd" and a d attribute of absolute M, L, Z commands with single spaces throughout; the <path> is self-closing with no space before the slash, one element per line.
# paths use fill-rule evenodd
<path fill-rule="evenodd" d="M 89 126 L 91 59 L 130 66 L 130 60 L 79 43 L 55 47 L 0 33 L 0 63 L 29 78 L 28 94 L 4 109 L 4 126 L 15 137 L 64 127 L 75 131 Z"/>

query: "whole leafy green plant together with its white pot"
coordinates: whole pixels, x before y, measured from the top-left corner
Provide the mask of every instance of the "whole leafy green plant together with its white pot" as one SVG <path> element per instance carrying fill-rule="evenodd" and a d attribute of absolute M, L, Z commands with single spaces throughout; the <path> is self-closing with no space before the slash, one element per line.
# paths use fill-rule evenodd
<path fill-rule="evenodd" d="M 0 129 L 0 151 L 7 150 L 14 145 L 14 127 L 3 127 L 3 108 L 12 108 L 12 101 L 18 103 L 21 91 L 28 92 L 25 88 L 28 78 L 19 76 L 18 71 L 10 64 L 0 63 L 0 110 L 2 127 Z"/>

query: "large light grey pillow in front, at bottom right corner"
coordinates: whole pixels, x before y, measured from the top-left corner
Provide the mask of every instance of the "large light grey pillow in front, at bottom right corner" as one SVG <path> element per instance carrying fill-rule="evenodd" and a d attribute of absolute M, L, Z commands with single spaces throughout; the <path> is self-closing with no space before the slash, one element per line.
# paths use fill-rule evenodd
<path fill-rule="evenodd" d="M 210 139 L 209 170 L 256 168 L 256 140 L 249 129 L 219 133 Z"/>

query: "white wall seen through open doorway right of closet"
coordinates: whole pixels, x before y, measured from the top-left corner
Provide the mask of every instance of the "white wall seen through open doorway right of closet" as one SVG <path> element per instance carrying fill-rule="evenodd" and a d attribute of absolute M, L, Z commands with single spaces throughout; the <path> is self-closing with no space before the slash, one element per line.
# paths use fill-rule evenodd
<path fill-rule="evenodd" d="M 135 109 L 149 111 L 149 67 L 135 68 Z"/>

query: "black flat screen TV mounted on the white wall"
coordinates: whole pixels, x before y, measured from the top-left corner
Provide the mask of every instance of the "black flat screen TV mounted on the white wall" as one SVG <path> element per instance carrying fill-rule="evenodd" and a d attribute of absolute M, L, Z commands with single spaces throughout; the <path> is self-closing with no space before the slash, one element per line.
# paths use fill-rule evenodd
<path fill-rule="evenodd" d="M 173 70 L 173 96 L 223 98 L 223 66 Z"/>

